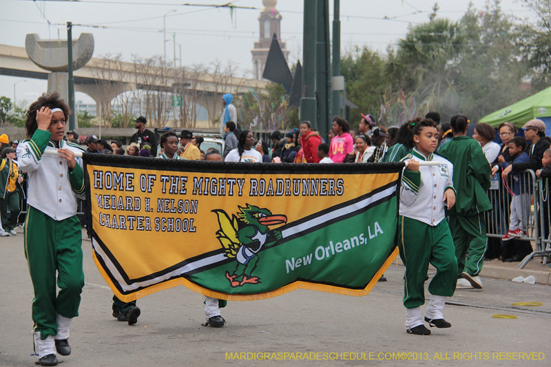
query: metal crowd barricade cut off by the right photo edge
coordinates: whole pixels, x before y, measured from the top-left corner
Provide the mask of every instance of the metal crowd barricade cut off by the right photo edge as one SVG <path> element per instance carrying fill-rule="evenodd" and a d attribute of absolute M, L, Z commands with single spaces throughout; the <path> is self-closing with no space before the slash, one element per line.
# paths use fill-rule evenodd
<path fill-rule="evenodd" d="M 540 238 L 539 243 L 536 243 L 536 249 L 526 256 L 517 268 L 522 269 L 532 258 L 543 258 L 543 264 L 545 265 L 548 258 L 551 258 L 551 235 L 550 235 L 550 221 L 549 213 L 551 210 L 551 198 L 549 196 L 549 182 L 548 178 L 538 180 L 538 201 L 537 208 L 534 205 L 534 213 L 536 214 L 536 221 L 539 221 Z"/>

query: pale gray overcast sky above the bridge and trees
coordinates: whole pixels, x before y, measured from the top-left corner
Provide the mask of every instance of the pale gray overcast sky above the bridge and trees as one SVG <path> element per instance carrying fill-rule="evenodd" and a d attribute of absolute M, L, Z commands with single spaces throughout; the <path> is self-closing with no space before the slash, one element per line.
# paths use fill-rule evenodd
<path fill-rule="evenodd" d="M 222 4 L 231 0 L 195 0 L 189 3 Z M 116 3 L 115 3 L 116 2 Z M 484 8 L 485 0 L 439 0 L 439 17 L 458 20 L 466 12 L 468 3 Z M 155 4 L 154 4 L 155 3 Z M 251 70 L 251 49 L 258 40 L 260 10 L 237 9 L 233 19 L 227 8 L 200 8 L 179 6 L 181 0 L 82 0 L 65 1 L 13 1 L 0 0 L 0 43 L 25 46 L 25 34 L 37 33 L 41 39 L 66 39 L 65 23 L 98 25 L 106 28 L 75 26 L 73 39 L 86 32 L 94 34 L 94 57 L 104 54 L 123 55 L 130 61 L 132 54 L 142 57 L 162 55 L 163 15 L 165 17 L 167 59 L 173 59 L 173 36 L 181 45 L 182 65 L 211 63 L 216 59 L 238 65 L 240 70 Z M 236 6 L 263 8 L 262 0 L 231 1 Z M 277 9 L 282 15 L 282 40 L 291 51 L 290 61 L 302 59 L 301 0 L 279 0 Z M 331 20 L 333 0 L 329 1 Z M 149 4 L 149 5 L 147 5 Z M 154 5 L 152 5 L 154 4 Z M 386 47 L 403 38 L 408 25 L 428 21 L 434 1 L 422 0 L 341 0 L 342 52 L 355 45 L 367 45 L 384 54 Z M 517 0 L 501 1 L 507 14 L 530 17 L 532 13 Z M 172 12 L 171 10 L 176 10 Z M 384 19 L 384 18 L 388 19 Z M 48 24 L 50 21 L 50 25 Z M 176 63 L 180 52 L 176 45 Z M 0 76 L 0 96 L 13 99 L 14 83 L 17 100 L 34 101 L 45 92 L 46 81 Z M 92 102 L 92 98 L 77 93 L 77 100 Z"/>

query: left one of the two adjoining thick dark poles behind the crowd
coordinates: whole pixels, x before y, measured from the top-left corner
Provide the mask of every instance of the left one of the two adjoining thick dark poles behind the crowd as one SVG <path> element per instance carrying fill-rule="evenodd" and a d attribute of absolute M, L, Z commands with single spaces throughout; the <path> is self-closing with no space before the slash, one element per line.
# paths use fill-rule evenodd
<path fill-rule="evenodd" d="M 315 100 L 315 27 L 317 0 L 304 0 L 304 41 L 302 50 L 302 98 L 299 118 L 309 120 L 318 129 L 318 107 Z"/>

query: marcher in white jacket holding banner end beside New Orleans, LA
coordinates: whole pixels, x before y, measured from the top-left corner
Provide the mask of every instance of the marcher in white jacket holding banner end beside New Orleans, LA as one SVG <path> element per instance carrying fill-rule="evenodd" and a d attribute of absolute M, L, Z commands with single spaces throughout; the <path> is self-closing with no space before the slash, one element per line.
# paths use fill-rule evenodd
<path fill-rule="evenodd" d="M 438 132 L 433 120 L 422 120 L 411 126 L 415 148 L 403 159 L 407 166 L 400 188 L 398 247 L 400 258 L 406 265 L 406 331 L 415 335 L 430 335 L 421 318 L 429 263 L 437 271 L 428 285 L 431 296 L 424 319 L 430 327 L 451 327 L 442 311 L 446 297 L 455 292 L 457 275 L 455 249 L 444 216 L 444 207 L 450 209 L 455 204 L 453 165 L 433 154 L 438 144 Z M 419 167 L 420 160 L 439 160 L 440 165 Z"/>

